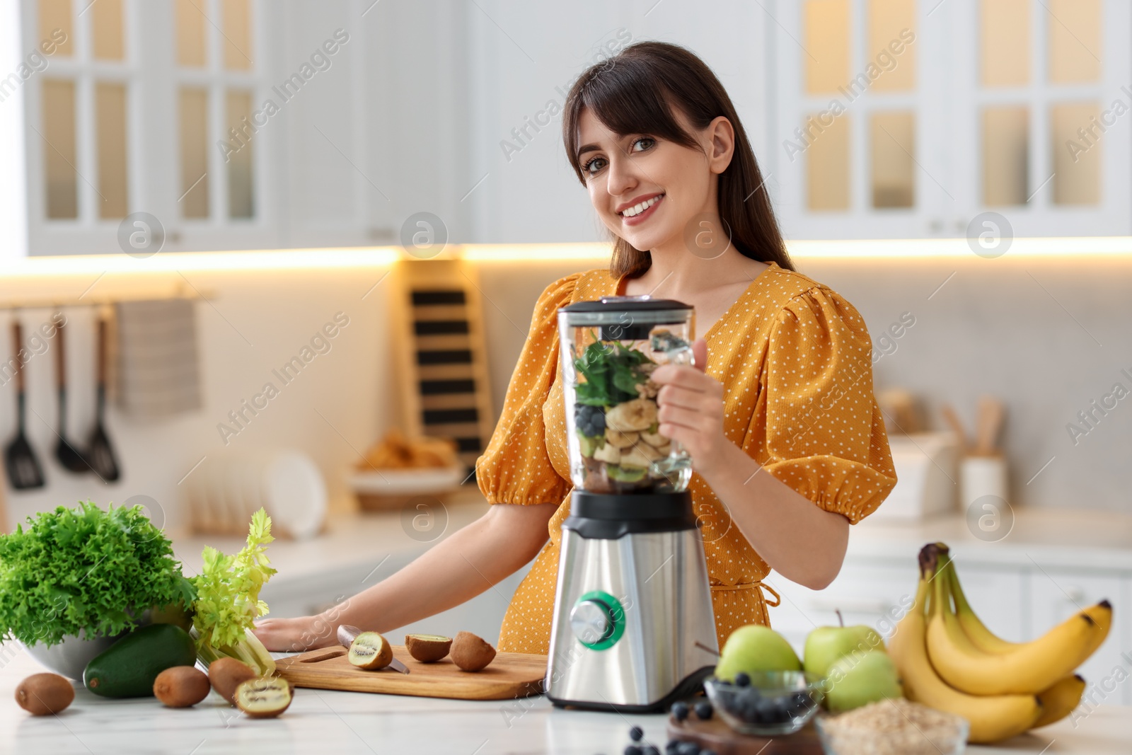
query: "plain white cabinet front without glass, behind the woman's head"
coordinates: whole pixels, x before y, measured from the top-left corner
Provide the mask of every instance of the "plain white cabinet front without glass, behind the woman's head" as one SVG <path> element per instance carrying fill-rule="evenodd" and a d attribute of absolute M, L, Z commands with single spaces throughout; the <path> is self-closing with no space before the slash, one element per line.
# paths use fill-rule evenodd
<path fill-rule="evenodd" d="M 583 70 L 634 42 L 671 42 L 700 55 L 730 94 L 756 154 L 766 148 L 766 92 L 777 74 L 762 44 L 773 22 L 760 3 L 581 0 L 530 3 L 516 12 L 507 0 L 481 0 L 468 22 L 477 96 L 463 190 L 470 191 L 477 241 L 604 238 L 565 155 L 561 106 Z"/>

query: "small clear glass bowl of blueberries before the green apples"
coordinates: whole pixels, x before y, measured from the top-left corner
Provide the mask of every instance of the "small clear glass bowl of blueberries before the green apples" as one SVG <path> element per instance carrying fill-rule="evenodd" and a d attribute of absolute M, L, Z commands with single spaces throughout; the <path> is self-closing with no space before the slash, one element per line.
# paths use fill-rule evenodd
<path fill-rule="evenodd" d="M 778 737 L 806 726 L 822 705 L 825 678 L 805 671 L 739 672 L 711 677 L 704 690 L 728 726 L 740 733 Z"/>

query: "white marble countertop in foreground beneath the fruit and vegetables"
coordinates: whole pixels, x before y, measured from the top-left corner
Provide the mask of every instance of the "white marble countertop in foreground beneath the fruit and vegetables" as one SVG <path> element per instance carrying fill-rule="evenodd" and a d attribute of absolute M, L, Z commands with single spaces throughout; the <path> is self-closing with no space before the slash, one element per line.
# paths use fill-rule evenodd
<path fill-rule="evenodd" d="M 7 650 L 7 649 L 6 649 Z M 554 709 L 544 696 L 469 702 L 320 689 L 297 689 L 294 702 L 272 720 L 245 718 L 215 693 L 191 709 L 173 710 L 152 697 L 105 700 L 79 686 L 59 715 L 33 718 L 14 701 L 16 685 L 43 669 L 22 649 L 0 669 L 0 753 L 55 755 L 615 755 L 640 726 L 663 752 L 663 715 L 621 715 Z M 985 753 L 1124 755 L 1132 741 L 1132 709 L 1101 705 Z"/>

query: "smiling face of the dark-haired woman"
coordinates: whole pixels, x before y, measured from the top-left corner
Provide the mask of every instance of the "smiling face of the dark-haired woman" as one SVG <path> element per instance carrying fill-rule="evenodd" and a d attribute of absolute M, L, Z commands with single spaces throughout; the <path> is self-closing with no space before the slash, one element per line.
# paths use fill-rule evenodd
<path fill-rule="evenodd" d="M 679 110 L 675 117 L 705 147 L 717 119 L 705 129 L 691 127 Z M 730 162 L 730 149 L 709 160 L 704 152 L 674 141 L 610 131 L 589 108 L 578 118 L 578 164 L 590 201 L 610 231 L 636 249 L 655 249 L 681 241 L 684 230 L 702 213 L 715 212 L 715 173 Z M 711 153 L 709 153 L 711 154 Z"/>

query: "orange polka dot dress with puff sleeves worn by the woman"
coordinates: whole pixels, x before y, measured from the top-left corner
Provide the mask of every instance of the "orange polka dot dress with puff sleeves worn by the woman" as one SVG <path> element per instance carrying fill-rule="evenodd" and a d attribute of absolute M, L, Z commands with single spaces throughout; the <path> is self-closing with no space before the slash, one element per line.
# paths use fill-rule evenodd
<path fill-rule="evenodd" d="M 477 461 L 490 504 L 559 504 L 550 540 L 504 617 L 499 650 L 548 653 L 561 524 L 569 515 L 569 460 L 558 371 L 558 308 L 624 293 L 607 269 L 575 273 L 542 292 L 503 413 Z M 856 524 L 897 483 L 873 396 L 873 345 L 852 304 L 771 264 L 703 336 L 707 375 L 723 384 L 723 431 L 766 472 Z M 703 523 L 720 646 L 736 627 L 770 625 L 762 580 L 770 567 L 730 524 L 698 474 L 688 489 Z M 778 602 L 770 603 L 777 606 Z"/>

